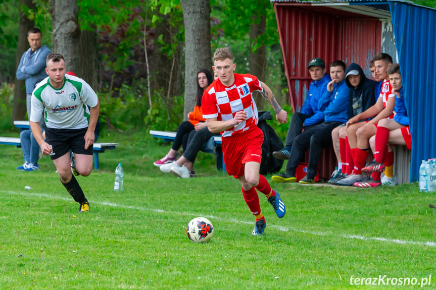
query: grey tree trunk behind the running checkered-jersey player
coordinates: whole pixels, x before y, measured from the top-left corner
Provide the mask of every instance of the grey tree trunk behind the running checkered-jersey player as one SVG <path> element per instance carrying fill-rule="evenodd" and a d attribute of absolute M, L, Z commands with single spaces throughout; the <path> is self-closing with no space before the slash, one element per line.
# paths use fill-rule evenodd
<path fill-rule="evenodd" d="M 183 115 L 192 111 L 196 102 L 197 73 L 212 71 L 211 7 L 209 1 L 181 0 L 185 28 L 185 102 Z"/>

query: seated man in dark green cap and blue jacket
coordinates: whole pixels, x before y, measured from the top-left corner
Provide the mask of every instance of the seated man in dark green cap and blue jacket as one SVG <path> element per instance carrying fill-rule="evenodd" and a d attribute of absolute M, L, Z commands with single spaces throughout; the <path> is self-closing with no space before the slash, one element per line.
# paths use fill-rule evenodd
<path fill-rule="evenodd" d="M 290 150 L 295 138 L 312 126 L 324 121 L 324 115 L 318 108 L 319 100 L 327 90 L 327 83 L 331 81 L 330 76 L 326 74 L 325 63 L 323 60 L 315 57 L 307 66 L 312 83 L 309 86 L 306 100 L 303 103 L 301 112 L 295 112 L 290 120 L 289 129 L 287 130 L 285 147 L 272 152 L 272 155 L 280 160 L 289 159 Z"/>

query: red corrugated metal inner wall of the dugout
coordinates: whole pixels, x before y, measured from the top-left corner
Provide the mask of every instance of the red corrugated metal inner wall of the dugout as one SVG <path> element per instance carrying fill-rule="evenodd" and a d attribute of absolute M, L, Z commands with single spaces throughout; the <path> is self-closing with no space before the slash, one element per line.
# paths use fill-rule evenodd
<path fill-rule="evenodd" d="M 347 65 L 359 64 L 371 77 L 369 63 L 381 50 L 381 22 L 378 19 L 343 18 L 340 11 L 308 4 L 274 3 L 274 9 L 294 112 L 300 111 L 312 81 L 307 64 L 313 57 L 324 60 L 327 73 L 328 64 L 343 60 Z M 337 164 L 333 149 L 324 149 L 321 158 L 320 177 L 327 179 Z"/>

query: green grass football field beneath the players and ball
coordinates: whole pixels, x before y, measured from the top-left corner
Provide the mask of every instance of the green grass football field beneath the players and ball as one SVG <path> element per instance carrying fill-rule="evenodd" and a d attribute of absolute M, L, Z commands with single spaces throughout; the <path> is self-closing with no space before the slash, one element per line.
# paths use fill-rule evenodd
<path fill-rule="evenodd" d="M 240 185 L 216 171 L 213 155 L 200 153 L 199 178 L 182 180 L 153 166 L 170 145 L 145 133 L 111 133 L 100 142 L 121 145 L 101 154 L 100 170 L 77 178 L 90 202 L 85 214 L 48 157 L 38 172 L 21 172 L 21 150 L 0 145 L 1 289 L 436 288 L 436 209 L 429 207 L 436 198 L 416 183 L 273 184 L 286 215 L 278 219 L 261 194 L 268 226 L 253 237 Z M 113 192 L 118 162 L 122 193 Z M 186 237 L 197 216 L 215 227 L 210 243 Z M 379 275 L 386 275 L 381 285 L 355 285 L 356 277 Z M 383 285 L 387 278 L 397 285 Z M 400 278 L 416 285 L 398 285 Z"/>

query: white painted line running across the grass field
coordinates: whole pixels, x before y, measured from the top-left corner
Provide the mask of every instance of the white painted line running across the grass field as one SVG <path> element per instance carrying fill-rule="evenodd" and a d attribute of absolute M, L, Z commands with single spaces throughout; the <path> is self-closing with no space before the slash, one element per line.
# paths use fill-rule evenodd
<path fill-rule="evenodd" d="M 72 201 L 71 197 L 67 196 L 66 197 L 61 197 L 61 196 L 54 196 L 54 195 L 48 195 L 48 194 L 43 194 L 43 193 L 27 193 L 27 192 L 12 192 L 12 191 L 8 191 L 7 193 L 9 194 L 14 194 L 14 195 L 25 195 L 25 196 L 35 196 L 35 197 L 45 197 L 45 198 L 50 198 L 50 199 L 60 199 L 60 200 L 66 200 L 66 201 Z M 100 202 L 100 201 L 91 201 L 91 205 L 92 204 L 100 204 L 100 205 L 106 205 L 106 206 L 113 206 L 113 207 L 121 207 L 121 208 L 129 208 L 129 209 L 136 209 L 136 210 L 140 210 L 140 211 L 153 211 L 153 212 L 159 212 L 159 213 L 167 213 L 167 214 L 180 214 L 180 212 L 170 212 L 170 211 L 165 211 L 163 209 L 150 209 L 150 208 L 144 208 L 144 207 L 137 207 L 137 206 L 127 206 L 127 205 L 122 205 L 122 204 L 117 204 L 117 203 L 112 203 L 112 202 Z M 253 224 L 253 221 L 241 221 L 241 220 L 237 220 L 237 219 L 224 219 L 222 217 L 217 217 L 217 216 L 213 216 L 213 215 L 199 215 L 197 213 L 182 213 L 184 215 L 191 215 L 191 216 L 204 216 L 206 218 L 211 218 L 211 219 L 218 219 L 218 220 L 223 220 L 223 221 L 230 221 L 230 222 L 235 222 L 235 223 L 245 223 L 245 224 Z M 354 239 L 354 240 L 362 240 L 362 241 L 378 241 L 378 242 L 386 242 L 386 243 L 394 243 L 394 244 L 402 244 L 402 245 L 419 245 L 419 246 L 427 246 L 427 247 L 436 247 L 436 242 L 415 242 L 415 241 L 408 241 L 408 240 L 399 240 L 399 239 L 386 239 L 386 238 L 380 238 L 380 237 L 364 237 L 364 236 L 359 236 L 359 235 L 342 235 L 342 234 L 328 234 L 328 233 L 323 233 L 322 231 L 312 231 L 312 230 L 304 230 L 304 229 L 298 229 L 293 227 L 292 225 L 289 225 L 289 227 L 286 226 L 281 226 L 281 225 L 268 225 L 271 227 L 274 227 L 278 230 L 281 231 L 296 231 L 297 233 L 303 233 L 303 234 L 310 234 L 313 236 L 329 236 L 329 235 L 334 235 L 336 237 L 341 237 L 343 239 Z"/>

